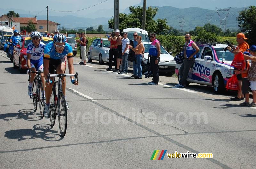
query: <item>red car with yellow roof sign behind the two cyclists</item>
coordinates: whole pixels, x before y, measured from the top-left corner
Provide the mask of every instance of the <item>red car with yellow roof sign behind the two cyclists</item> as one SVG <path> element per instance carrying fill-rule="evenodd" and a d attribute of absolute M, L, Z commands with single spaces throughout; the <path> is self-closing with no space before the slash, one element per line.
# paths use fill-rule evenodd
<path fill-rule="evenodd" d="M 53 39 L 49 37 L 42 37 L 41 42 L 44 44 L 52 42 Z M 23 73 L 27 70 L 27 63 L 26 63 L 26 57 L 27 57 L 27 48 L 28 44 L 31 43 L 30 37 L 22 37 L 18 45 L 15 46 L 14 52 L 13 52 L 13 68 L 19 67 L 20 73 Z"/>

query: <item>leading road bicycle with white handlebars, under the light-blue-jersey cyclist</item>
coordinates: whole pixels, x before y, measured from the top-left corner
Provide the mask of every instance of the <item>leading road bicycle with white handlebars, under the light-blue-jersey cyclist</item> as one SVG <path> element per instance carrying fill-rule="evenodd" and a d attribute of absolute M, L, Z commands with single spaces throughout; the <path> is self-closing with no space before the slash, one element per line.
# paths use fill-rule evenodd
<path fill-rule="evenodd" d="M 55 70 L 56 71 L 56 70 Z M 58 115 L 59 120 L 59 128 L 60 135 L 62 137 L 65 136 L 67 130 L 67 107 L 66 107 L 66 99 L 63 94 L 62 84 L 65 83 L 63 81 L 63 77 L 74 76 L 75 80 L 78 82 L 78 73 L 76 74 L 48 74 L 47 80 L 50 81 L 50 77 L 53 77 L 53 87 L 52 87 L 52 95 L 50 97 L 50 121 L 51 126 L 53 127 L 55 124 L 56 116 Z M 58 77 L 58 81 L 55 81 L 55 77 Z M 62 83 L 63 81 L 63 83 Z M 56 84 L 58 84 L 58 93 L 56 95 Z"/>

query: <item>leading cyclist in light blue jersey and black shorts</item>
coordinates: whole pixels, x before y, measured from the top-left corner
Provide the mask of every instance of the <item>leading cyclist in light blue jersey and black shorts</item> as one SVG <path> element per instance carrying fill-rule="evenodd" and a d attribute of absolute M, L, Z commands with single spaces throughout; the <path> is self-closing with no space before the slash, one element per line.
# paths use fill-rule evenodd
<path fill-rule="evenodd" d="M 48 43 L 44 48 L 44 77 L 46 78 L 45 87 L 45 106 L 44 117 L 50 117 L 49 101 L 52 94 L 53 83 L 47 81 L 48 73 L 54 74 L 54 66 L 56 67 L 57 74 L 64 74 L 66 71 L 65 57 L 68 60 L 68 70 L 70 74 L 74 74 L 73 67 L 73 52 L 71 46 L 66 42 L 66 37 L 62 34 L 56 34 L 53 37 L 53 42 Z M 63 77 L 64 83 L 62 85 L 63 93 L 66 96 L 66 78 Z M 70 77 L 71 83 L 78 85 L 74 77 Z M 68 103 L 67 110 L 69 109 Z"/>

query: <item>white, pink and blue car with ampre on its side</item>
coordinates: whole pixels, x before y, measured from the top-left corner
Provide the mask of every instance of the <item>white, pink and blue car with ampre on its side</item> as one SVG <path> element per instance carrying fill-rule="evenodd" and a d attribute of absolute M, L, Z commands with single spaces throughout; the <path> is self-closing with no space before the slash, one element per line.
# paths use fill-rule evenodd
<path fill-rule="evenodd" d="M 198 83 L 214 87 L 215 93 L 225 90 L 228 79 L 233 75 L 234 67 L 230 66 L 234 54 L 224 50 L 226 44 L 197 43 L 200 51 L 196 54 L 193 66 L 190 68 L 186 85 Z M 180 81 L 179 69 L 176 63 L 175 73 Z"/>

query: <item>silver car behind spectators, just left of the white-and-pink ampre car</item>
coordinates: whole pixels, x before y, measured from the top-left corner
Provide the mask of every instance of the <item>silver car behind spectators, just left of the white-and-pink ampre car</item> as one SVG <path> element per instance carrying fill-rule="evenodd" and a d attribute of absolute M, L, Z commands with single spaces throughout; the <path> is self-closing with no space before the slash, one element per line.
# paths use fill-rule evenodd
<path fill-rule="evenodd" d="M 149 54 L 149 48 L 151 46 L 151 42 L 143 42 L 145 47 L 145 53 L 144 58 L 142 59 L 142 68 L 143 72 L 146 70 L 146 65 L 148 62 L 148 54 Z M 168 72 L 168 73 L 174 73 L 175 72 L 175 65 L 176 62 L 173 60 L 174 57 L 170 55 L 162 45 L 160 45 L 161 54 L 160 54 L 160 62 L 159 62 L 159 72 Z M 150 59 L 150 58 L 149 58 Z M 133 68 L 133 63 L 128 60 L 128 67 Z"/>

